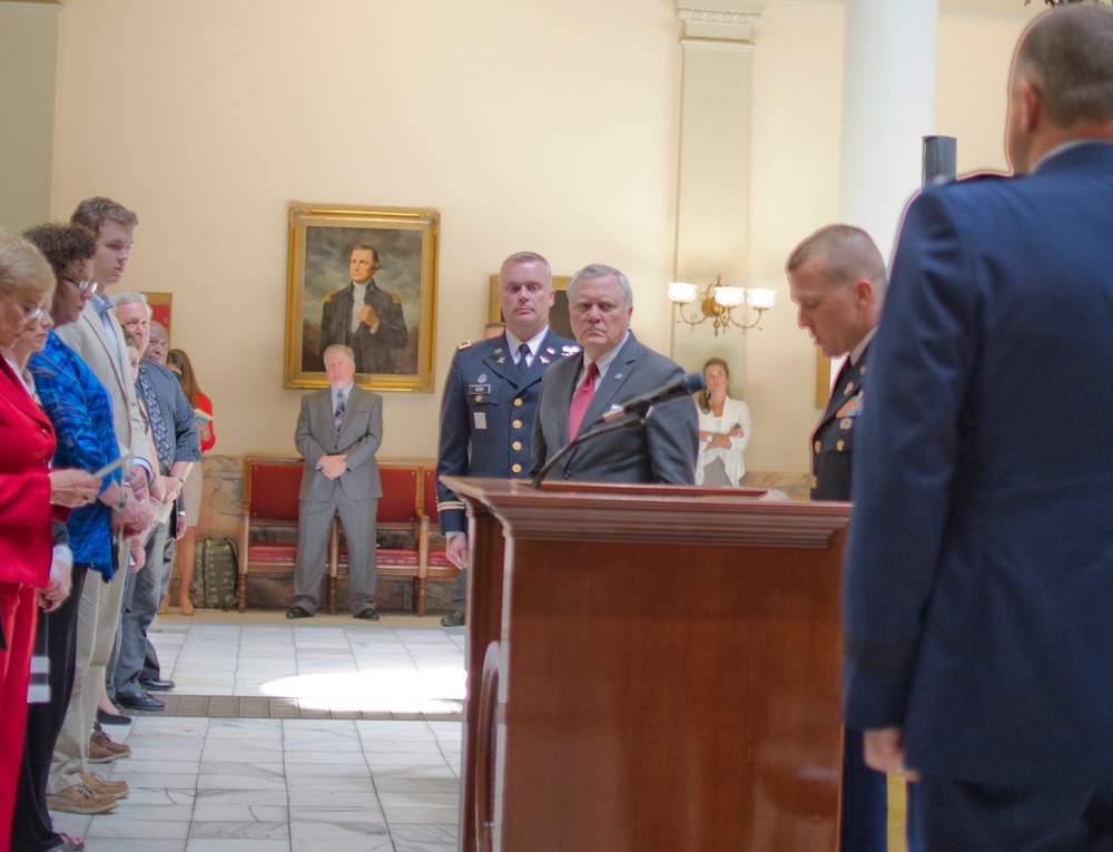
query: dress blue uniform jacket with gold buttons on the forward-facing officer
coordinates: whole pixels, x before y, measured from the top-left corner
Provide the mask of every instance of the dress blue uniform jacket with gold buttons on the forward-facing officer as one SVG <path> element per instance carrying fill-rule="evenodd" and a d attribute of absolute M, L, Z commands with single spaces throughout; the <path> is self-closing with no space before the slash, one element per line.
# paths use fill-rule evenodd
<path fill-rule="evenodd" d="M 513 477 L 530 472 L 530 437 L 550 364 L 580 346 L 550 329 L 522 375 L 506 335 L 462 343 L 452 359 L 441 400 L 436 459 L 436 510 L 442 532 L 464 532 L 464 505 L 441 484 L 442 476 Z"/>

